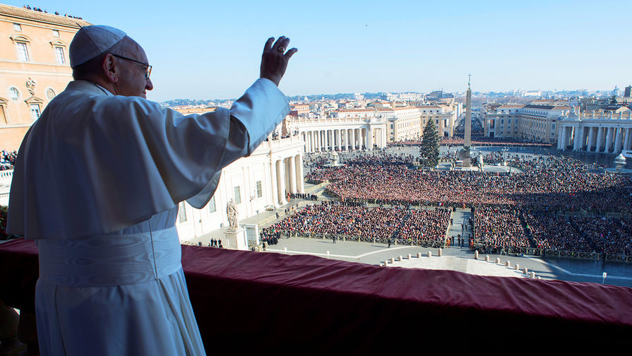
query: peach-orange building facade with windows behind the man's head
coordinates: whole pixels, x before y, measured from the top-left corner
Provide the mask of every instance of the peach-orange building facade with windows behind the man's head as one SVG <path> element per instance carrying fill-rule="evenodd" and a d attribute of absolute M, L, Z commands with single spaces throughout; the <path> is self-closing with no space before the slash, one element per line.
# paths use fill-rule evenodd
<path fill-rule="evenodd" d="M 72 80 L 68 46 L 84 20 L 0 4 L 0 148 L 17 150 Z"/>

